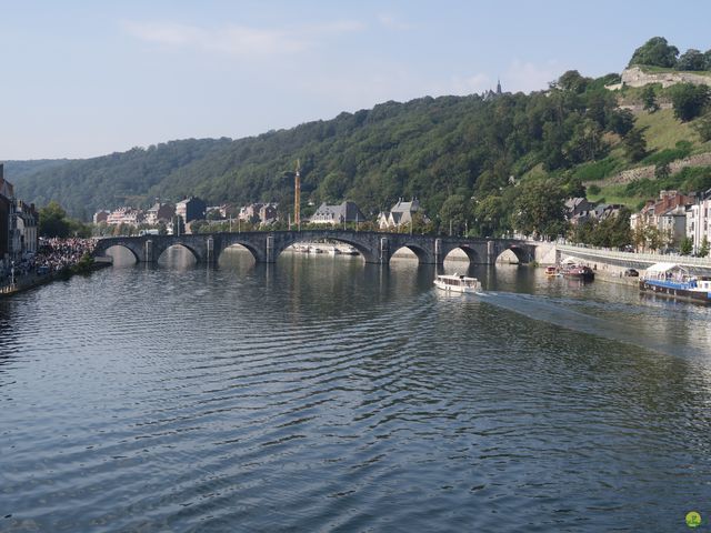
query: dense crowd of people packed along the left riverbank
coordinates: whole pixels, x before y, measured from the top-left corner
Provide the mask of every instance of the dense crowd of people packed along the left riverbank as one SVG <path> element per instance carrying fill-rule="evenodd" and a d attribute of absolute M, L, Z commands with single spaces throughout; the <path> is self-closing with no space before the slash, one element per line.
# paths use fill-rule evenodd
<path fill-rule="evenodd" d="M 94 239 L 41 239 L 36 254 L 0 269 L 0 285 L 22 283 L 28 278 L 60 272 L 76 265 L 97 247 Z"/>

